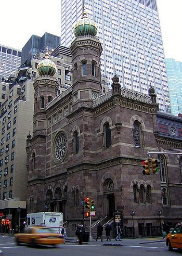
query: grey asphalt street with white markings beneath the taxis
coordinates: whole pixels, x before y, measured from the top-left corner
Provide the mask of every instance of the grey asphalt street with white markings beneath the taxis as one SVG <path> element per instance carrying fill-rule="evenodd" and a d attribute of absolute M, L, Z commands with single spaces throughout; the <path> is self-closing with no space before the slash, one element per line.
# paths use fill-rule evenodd
<path fill-rule="evenodd" d="M 121 256 L 121 255 L 135 255 L 141 256 L 153 256 L 153 255 L 180 255 L 181 250 L 174 249 L 172 252 L 168 251 L 165 246 L 165 242 L 151 242 L 147 244 L 137 244 L 135 239 L 131 239 L 126 244 L 126 240 L 123 239 L 121 244 L 116 241 L 113 242 L 90 242 L 89 244 L 84 243 L 84 245 L 78 245 L 74 241 L 67 241 L 65 245 L 60 245 L 55 247 L 43 247 L 36 246 L 35 248 L 29 246 L 17 246 L 12 236 L 0 236 L 0 250 L 3 251 L 3 255 L 44 255 L 44 256 L 56 256 L 56 255 L 66 255 L 80 256 L 80 255 L 105 255 L 105 256 Z M 127 239 L 128 241 L 128 239 Z M 123 244 L 123 245 L 122 245 Z M 132 245 L 133 244 L 133 245 Z M 115 245 L 115 246 L 113 246 Z"/>

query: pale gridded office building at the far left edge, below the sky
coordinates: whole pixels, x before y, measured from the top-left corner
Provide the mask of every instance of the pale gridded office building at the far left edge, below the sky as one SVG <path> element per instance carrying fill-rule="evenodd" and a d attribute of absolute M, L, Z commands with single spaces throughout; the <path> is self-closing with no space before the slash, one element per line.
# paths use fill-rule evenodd
<path fill-rule="evenodd" d="M 0 79 L 8 80 L 11 74 L 16 74 L 21 64 L 21 50 L 0 45 Z"/>

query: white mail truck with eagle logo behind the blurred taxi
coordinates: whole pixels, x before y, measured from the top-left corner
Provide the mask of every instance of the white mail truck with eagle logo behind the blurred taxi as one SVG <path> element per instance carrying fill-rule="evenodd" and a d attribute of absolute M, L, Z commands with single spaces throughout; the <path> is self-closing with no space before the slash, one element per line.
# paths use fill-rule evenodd
<path fill-rule="evenodd" d="M 26 227 L 42 225 L 53 229 L 54 233 L 61 234 L 63 226 L 62 212 L 33 212 L 28 213 L 26 218 Z"/>

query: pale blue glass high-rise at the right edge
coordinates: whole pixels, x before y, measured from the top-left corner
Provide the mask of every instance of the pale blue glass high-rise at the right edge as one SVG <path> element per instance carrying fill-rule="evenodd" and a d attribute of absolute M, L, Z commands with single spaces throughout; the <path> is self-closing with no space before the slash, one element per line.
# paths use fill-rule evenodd
<path fill-rule="evenodd" d="M 170 92 L 171 112 L 175 116 L 182 113 L 182 62 L 168 58 L 165 60 L 168 89 Z"/>

